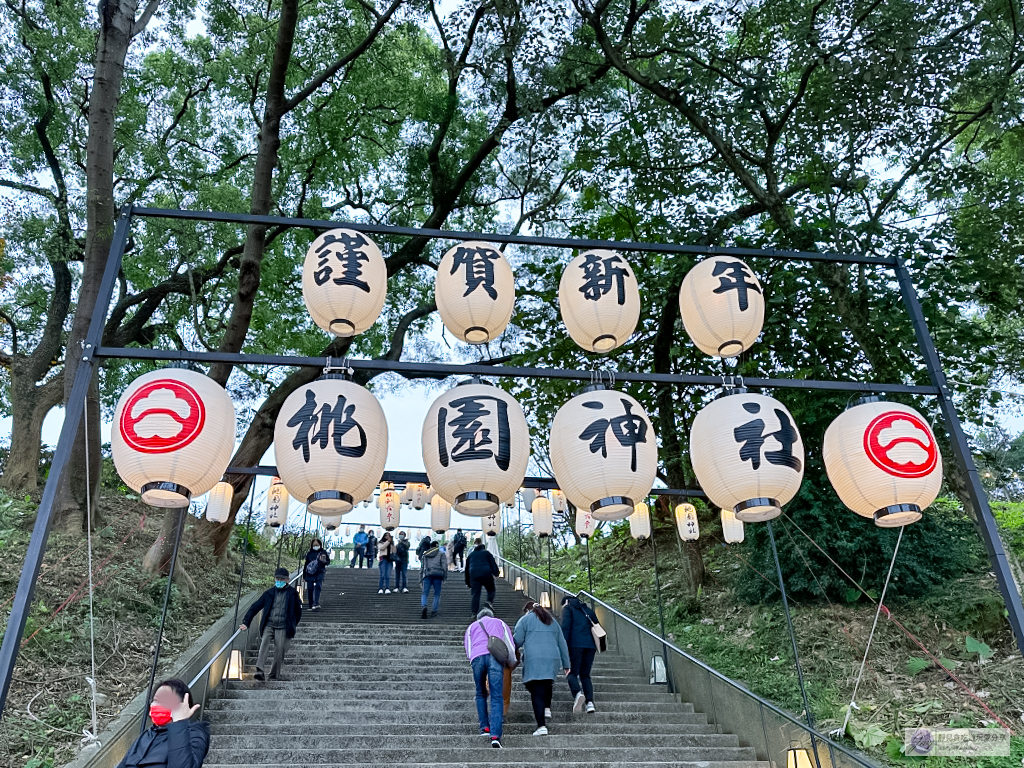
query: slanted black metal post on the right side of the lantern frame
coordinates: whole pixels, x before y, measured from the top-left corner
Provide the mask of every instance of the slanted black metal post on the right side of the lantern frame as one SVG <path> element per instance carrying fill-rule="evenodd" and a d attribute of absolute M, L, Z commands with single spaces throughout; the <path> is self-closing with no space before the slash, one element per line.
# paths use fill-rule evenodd
<path fill-rule="evenodd" d="M 1002 548 L 1002 541 L 999 539 L 998 526 L 992 516 L 992 510 L 988 506 L 988 497 L 981 485 L 981 478 L 978 476 L 978 468 L 971 456 L 964 427 L 956 415 L 956 407 L 953 404 L 952 393 L 947 386 L 946 375 L 942 371 L 942 362 L 935 348 L 935 341 L 928 331 L 928 323 L 925 321 L 925 313 L 918 300 L 918 292 L 914 290 L 913 281 L 910 280 L 906 265 L 899 258 L 896 259 L 896 280 L 899 283 L 903 303 L 906 304 L 907 313 L 910 315 L 913 333 L 918 338 L 918 346 L 925 357 L 928 376 L 932 380 L 932 384 L 939 390 L 939 409 L 942 411 L 946 429 L 949 431 L 949 442 L 952 445 L 953 455 L 967 479 L 968 496 L 975 514 L 978 516 L 981 538 L 985 542 L 985 549 L 988 550 L 988 559 L 995 572 L 999 594 L 1006 603 L 1007 618 L 1014 632 L 1014 637 L 1017 638 L 1017 650 L 1024 654 L 1024 605 L 1021 604 L 1021 595 L 1014 582 L 1010 563 L 1007 561 L 1007 553 Z"/>

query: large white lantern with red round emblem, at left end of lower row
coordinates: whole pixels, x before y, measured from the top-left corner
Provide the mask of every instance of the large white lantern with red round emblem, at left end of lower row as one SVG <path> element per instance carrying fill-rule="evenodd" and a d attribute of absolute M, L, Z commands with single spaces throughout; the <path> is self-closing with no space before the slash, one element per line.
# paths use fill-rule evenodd
<path fill-rule="evenodd" d="M 187 507 L 227 469 L 234 428 L 231 398 L 212 379 L 182 369 L 142 374 L 114 411 L 114 466 L 146 504 Z"/>

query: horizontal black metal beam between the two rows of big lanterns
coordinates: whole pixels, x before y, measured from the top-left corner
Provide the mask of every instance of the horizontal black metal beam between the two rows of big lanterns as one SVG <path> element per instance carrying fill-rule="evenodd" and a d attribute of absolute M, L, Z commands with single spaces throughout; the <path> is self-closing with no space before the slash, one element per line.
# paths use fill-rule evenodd
<path fill-rule="evenodd" d="M 191 362 L 229 362 L 234 366 L 307 366 L 325 368 L 327 357 L 303 357 L 291 354 L 248 354 L 244 352 L 193 352 L 179 349 L 141 349 L 137 347 L 100 347 L 97 357 L 144 360 L 184 360 Z M 341 357 L 332 357 L 331 365 L 341 366 Z M 347 358 L 347 365 L 357 371 L 377 373 L 393 372 L 407 376 L 434 377 L 449 376 L 495 376 L 513 379 L 566 379 L 589 382 L 594 371 L 573 371 L 561 368 L 528 368 L 521 366 L 485 366 L 480 364 L 459 365 L 453 362 L 404 362 L 384 359 Z M 608 372 L 604 372 L 605 379 Z M 689 386 L 720 387 L 721 376 L 698 376 L 693 374 L 648 374 L 614 372 L 616 382 L 629 381 L 649 384 L 685 384 Z M 738 383 L 738 382 L 737 382 Z M 888 392 L 891 394 L 918 394 L 936 396 L 939 390 L 934 386 L 910 384 L 882 384 L 860 381 L 818 381 L 814 379 L 755 379 L 743 377 L 743 386 L 758 389 L 820 389 L 839 392 Z"/>

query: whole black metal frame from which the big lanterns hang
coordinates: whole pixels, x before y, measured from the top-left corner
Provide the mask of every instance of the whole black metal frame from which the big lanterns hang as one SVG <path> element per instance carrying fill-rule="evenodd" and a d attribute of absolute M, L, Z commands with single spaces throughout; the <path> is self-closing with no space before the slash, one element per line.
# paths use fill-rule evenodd
<path fill-rule="evenodd" d="M 905 265 L 895 257 L 874 257 L 858 254 L 838 254 L 838 253 L 817 253 L 808 251 L 784 251 L 784 250 L 762 250 L 753 248 L 713 248 L 707 246 L 676 245 L 676 244 L 651 244 L 633 243 L 603 240 L 579 240 L 563 238 L 538 238 L 529 236 L 510 236 L 482 232 L 452 231 L 444 229 L 421 229 L 417 227 L 385 226 L 380 224 L 367 224 L 359 222 L 342 222 L 331 220 L 290 218 L 283 216 L 257 216 L 253 214 L 218 213 L 211 211 L 181 211 L 160 208 L 136 208 L 125 206 L 119 212 L 114 229 L 114 237 L 111 241 L 111 249 L 100 280 L 97 294 L 96 311 L 93 314 L 89 330 L 86 334 L 82 359 L 79 362 L 78 372 L 72 383 L 71 395 L 68 399 L 65 412 L 63 426 L 60 430 L 60 437 L 53 455 L 49 476 L 46 486 L 43 489 L 42 501 L 36 516 L 32 538 L 26 554 L 25 564 L 22 569 L 22 577 L 18 581 L 17 590 L 11 612 L 8 617 L 7 630 L 4 633 L 3 643 L 0 645 L 0 716 L 2 716 L 7 701 L 7 694 L 10 690 L 11 677 L 14 665 L 17 660 L 18 648 L 22 636 L 25 632 L 25 625 L 29 617 L 32 605 L 32 597 L 35 590 L 36 580 L 42 566 L 43 557 L 46 552 L 46 543 L 49 538 L 49 530 L 54 516 L 57 494 L 68 474 L 69 460 L 72 452 L 72 444 L 82 423 L 85 407 L 85 398 L 89 384 L 95 375 L 97 358 L 132 358 L 150 360 L 186 360 L 196 362 L 230 362 L 238 365 L 258 365 L 258 366 L 315 366 L 326 367 L 330 365 L 326 357 L 308 357 L 293 355 L 268 355 L 268 354 L 246 354 L 246 353 L 224 353 L 224 352 L 188 352 L 179 350 L 160 349 L 122 349 L 101 346 L 103 326 L 118 271 L 124 257 L 125 248 L 128 242 L 128 233 L 132 219 L 135 216 L 145 218 L 165 218 L 187 221 L 215 221 L 236 224 L 270 224 L 285 227 L 330 229 L 338 226 L 346 226 L 361 232 L 373 234 L 387 234 L 403 238 L 422 239 L 445 239 L 455 241 L 465 240 L 485 240 L 497 243 L 521 244 L 528 246 L 550 246 L 567 249 L 592 249 L 604 248 L 610 250 L 662 253 L 662 254 L 722 254 L 742 256 L 748 258 L 769 258 L 775 260 L 795 261 L 827 261 L 844 264 L 865 264 L 894 269 L 899 284 L 902 299 L 906 305 L 913 325 L 916 341 L 925 357 L 931 386 L 909 386 L 904 384 L 886 384 L 876 382 L 848 382 L 848 381 L 810 381 L 794 379 L 745 379 L 748 386 L 763 387 L 772 389 L 798 388 L 798 389 L 819 389 L 833 391 L 852 392 L 888 392 L 892 394 L 916 394 L 936 396 L 943 417 L 949 429 L 952 442 L 953 454 L 956 461 L 968 477 L 968 487 L 973 504 L 976 507 L 978 517 L 981 521 L 981 532 L 988 549 L 993 569 L 996 574 L 999 591 L 1006 603 L 1010 625 L 1017 638 L 1019 649 L 1024 652 L 1024 606 L 1021 604 L 1021 597 L 1013 581 L 1013 575 L 1007 561 L 1002 543 L 999 540 L 995 520 L 985 492 L 981 486 L 977 468 L 971 456 L 967 437 L 961 426 L 956 410 L 951 399 L 946 384 L 945 375 L 942 372 L 941 362 L 935 349 L 935 344 L 928 331 L 921 303 L 918 300 L 916 292 L 910 275 Z M 68 350 L 68 354 L 77 354 L 78 350 Z M 538 368 L 523 368 L 510 366 L 481 366 L 481 365 L 452 365 L 452 364 L 431 364 L 431 362 L 400 362 L 392 360 L 348 360 L 348 365 L 353 369 L 364 371 L 384 372 L 391 371 L 399 374 L 426 375 L 426 376 L 496 376 L 515 378 L 552 378 L 588 381 L 591 379 L 590 371 L 569 371 L 551 370 Z M 666 383 L 675 385 L 703 385 L 719 386 L 723 383 L 721 377 L 714 376 L 688 376 L 688 375 L 668 375 L 650 373 L 615 373 L 618 381 L 629 382 L 650 382 Z M 263 474 L 263 468 L 256 471 L 247 470 L 250 474 Z M 233 470 L 239 472 L 238 469 Z M 395 473 L 399 475 L 422 476 L 420 473 Z M 535 482 L 537 478 L 530 478 Z M 542 480 L 546 484 L 535 484 L 529 482 L 530 487 L 548 487 L 551 480 Z M 657 492 L 655 492 L 657 493 Z M 664 492 L 663 492 L 664 493 Z M 700 496 L 699 492 L 673 492 L 678 496 Z"/>

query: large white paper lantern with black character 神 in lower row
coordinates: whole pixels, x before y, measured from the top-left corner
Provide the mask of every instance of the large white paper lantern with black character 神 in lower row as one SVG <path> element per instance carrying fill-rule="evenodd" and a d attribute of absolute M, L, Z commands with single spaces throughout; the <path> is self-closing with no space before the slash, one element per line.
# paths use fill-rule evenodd
<path fill-rule="evenodd" d="M 550 439 L 559 488 L 599 520 L 629 517 L 654 484 L 654 428 L 625 392 L 588 387 L 558 409 Z"/>

